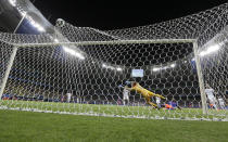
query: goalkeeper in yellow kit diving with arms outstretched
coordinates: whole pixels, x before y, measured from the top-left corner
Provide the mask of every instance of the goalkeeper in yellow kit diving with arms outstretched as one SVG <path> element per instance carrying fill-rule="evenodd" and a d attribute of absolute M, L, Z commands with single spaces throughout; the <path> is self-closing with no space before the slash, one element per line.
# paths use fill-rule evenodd
<path fill-rule="evenodd" d="M 127 81 L 127 82 L 129 82 L 129 81 Z M 154 106 L 154 107 L 157 107 L 157 105 L 151 102 L 151 96 L 157 96 L 157 98 L 161 98 L 161 99 L 165 99 L 164 96 L 162 96 L 160 94 L 155 94 L 155 93 L 144 89 L 143 87 L 141 87 L 136 81 L 132 81 L 131 82 L 131 88 L 127 88 L 127 89 L 130 90 L 130 91 L 135 90 L 138 93 L 140 93 L 145 99 L 147 103 L 150 104 L 151 106 Z"/>

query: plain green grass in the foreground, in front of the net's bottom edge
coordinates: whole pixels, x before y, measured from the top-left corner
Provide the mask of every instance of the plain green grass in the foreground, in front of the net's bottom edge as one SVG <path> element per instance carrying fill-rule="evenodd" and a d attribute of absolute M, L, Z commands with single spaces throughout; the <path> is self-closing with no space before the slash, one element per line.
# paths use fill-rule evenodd
<path fill-rule="evenodd" d="M 225 142 L 228 122 L 0 111 L 0 142 Z"/>

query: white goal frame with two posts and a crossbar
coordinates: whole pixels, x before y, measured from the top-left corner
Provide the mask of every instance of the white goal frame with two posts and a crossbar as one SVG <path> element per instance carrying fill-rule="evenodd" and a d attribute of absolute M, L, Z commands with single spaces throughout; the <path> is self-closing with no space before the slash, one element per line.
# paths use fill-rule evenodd
<path fill-rule="evenodd" d="M 2 98 L 11 68 L 13 66 L 16 52 L 18 48 L 29 48 L 29 47 L 49 47 L 49 46 L 91 46 L 91 44 L 129 44 L 129 43 L 192 43 L 193 54 L 197 65 L 197 74 L 199 79 L 200 86 L 200 94 L 201 94 L 201 103 L 202 103 L 202 111 L 203 114 L 207 114 L 207 104 L 206 104 L 206 94 L 205 94 L 205 87 L 204 80 L 201 69 L 201 60 L 200 53 L 198 51 L 198 41 L 197 39 L 154 39 L 154 40 L 112 40 L 112 41 L 81 41 L 81 42 L 47 42 L 47 43 L 9 43 L 13 46 L 12 53 L 10 55 L 10 60 L 2 79 L 2 83 L 0 85 L 0 100 Z"/>

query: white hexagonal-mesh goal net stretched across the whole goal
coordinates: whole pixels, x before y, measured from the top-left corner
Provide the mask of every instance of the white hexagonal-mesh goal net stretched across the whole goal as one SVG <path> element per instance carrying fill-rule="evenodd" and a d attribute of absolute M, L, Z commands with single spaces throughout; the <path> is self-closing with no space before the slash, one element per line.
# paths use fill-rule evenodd
<path fill-rule="evenodd" d="M 227 3 L 154 25 L 0 34 L 0 108 L 228 120 Z M 155 98 L 155 96 L 161 98 Z"/>

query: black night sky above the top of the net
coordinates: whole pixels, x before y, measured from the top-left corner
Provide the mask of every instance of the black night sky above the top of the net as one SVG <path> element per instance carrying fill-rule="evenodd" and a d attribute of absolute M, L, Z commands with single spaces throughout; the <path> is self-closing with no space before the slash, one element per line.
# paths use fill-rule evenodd
<path fill-rule="evenodd" d="M 61 17 L 80 27 L 117 29 L 150 25 L 204 11 L 227 0 L 31 0 L 52 24 Z"/>

